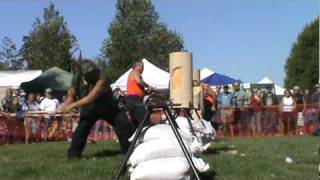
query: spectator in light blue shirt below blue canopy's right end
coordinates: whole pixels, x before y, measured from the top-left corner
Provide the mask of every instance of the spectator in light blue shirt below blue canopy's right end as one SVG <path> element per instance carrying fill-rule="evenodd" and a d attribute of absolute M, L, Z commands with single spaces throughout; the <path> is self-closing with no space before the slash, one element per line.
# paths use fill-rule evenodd
<path fill-rule="evenodd" d="M 249 96 L 240 83 L 234 84 L 233 98 L 236 106 L 236 121 L 238 123 L 239 135 L 245 133 L 250 125 L 249 119 Z"/>

